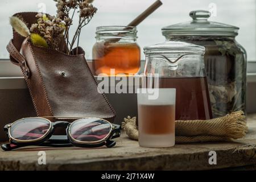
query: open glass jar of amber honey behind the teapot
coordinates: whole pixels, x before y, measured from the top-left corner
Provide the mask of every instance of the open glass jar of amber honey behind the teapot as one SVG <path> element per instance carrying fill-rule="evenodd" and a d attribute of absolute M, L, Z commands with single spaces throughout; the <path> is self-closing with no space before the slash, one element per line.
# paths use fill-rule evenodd
<path fill-rule="evenodd" d="M 136 43 L 136 27 L 97 27 L 93 46 L 93 71 L 95 75 L 135 74 L 141 67 L 141 49 Z"/>

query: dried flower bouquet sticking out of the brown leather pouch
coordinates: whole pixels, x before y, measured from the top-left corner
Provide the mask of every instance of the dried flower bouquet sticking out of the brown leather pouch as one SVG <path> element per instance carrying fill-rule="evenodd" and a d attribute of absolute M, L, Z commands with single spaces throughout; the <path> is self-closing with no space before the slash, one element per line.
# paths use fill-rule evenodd
<path fill-rule="evenodd" d="M 35 46 L 59 50 L 60 43 L 64 40 L 64 52 L 71 54 L 75 44 L 79 47 L 82 27 L 90 22 L 97 9 L 92 5 L 93 0 L 53 1 L 56 1 L 56 16 L 38 13 L 36 15 L 37 22 L 30 28 L 21 17 L 12 16 L 10 24 L 20 35 L 26 38 L 30 36 L 30 40 Z M 69 30 L 76 13 L 79 14 L 79 22 L 75 34 L 71 36 Z"/>

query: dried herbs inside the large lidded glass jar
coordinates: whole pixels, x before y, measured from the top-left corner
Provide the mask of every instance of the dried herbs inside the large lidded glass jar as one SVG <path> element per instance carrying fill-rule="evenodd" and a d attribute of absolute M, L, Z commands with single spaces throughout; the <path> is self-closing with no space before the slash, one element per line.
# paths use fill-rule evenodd
<path fill-rule="evenodd" d="M 233 40 L 214 40 L 219 54 L 205 53 L 208 67 L 209 92 L 214 117 L 220 117 L 232 111 L 245 111 L 246 100 L 246 63 L 243 49 Z M 214 47 L 208 47 L 209 52 Z M 220 60 L 220 61 L 218 61 Z M 212 61 L 221 74 L 211 69 Z M 208 63 L 209 62 L 209 63 Z"/>

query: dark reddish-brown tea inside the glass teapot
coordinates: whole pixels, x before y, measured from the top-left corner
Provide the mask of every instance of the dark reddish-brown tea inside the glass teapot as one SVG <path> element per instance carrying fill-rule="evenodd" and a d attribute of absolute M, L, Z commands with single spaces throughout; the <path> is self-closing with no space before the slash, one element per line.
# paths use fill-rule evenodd
<path fill-rule="evenodd" d="M 206 77 L 159 77 L 159 88 L 176 88 L 175 120 L 212 118 Z"/>

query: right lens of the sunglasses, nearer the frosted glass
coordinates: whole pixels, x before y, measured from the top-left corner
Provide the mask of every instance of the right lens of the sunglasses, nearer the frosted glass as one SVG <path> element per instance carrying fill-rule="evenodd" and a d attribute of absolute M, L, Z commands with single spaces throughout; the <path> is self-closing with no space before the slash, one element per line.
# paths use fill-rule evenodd
<path fill-rule="evenodd" d="M 74 121 L 70 126 L 71 137 L 80 142 L 97 142 L 108 137 L 112 126 L 97 118 L 84 118 Z"/>

